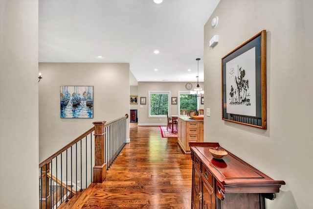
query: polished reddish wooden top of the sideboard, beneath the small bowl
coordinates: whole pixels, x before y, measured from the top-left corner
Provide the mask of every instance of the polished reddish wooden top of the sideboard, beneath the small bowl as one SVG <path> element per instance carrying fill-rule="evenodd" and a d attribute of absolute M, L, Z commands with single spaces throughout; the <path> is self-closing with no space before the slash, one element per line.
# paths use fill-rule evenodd
<path fill-rule="evenodd" d="M 219 149 L 224 150 L 223 147 L 220 147 L 219 143 L 202 142 L 189 143 L 189 145 L 190 150 L 200 158 L 213 176 L 223 184 L 226 190 L 231 191 L 232 189 L 235 190 L 235 187 L 241 187 L 242 190 L 262 190 L 262 193 L 268 193 L 279 192 L 279 187 L 285 185 L 284 181 L 271 179 L 227 150 L 228 155 L 223 159 L 214 159 L 209 149 L 219 147 Z"/>

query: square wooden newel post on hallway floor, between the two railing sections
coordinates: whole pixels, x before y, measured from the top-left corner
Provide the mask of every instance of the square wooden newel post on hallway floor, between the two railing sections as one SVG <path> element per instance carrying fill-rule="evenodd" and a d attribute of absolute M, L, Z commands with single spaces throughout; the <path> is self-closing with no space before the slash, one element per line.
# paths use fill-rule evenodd
<path fill-rule="evenodd" d="M 105 137 L 104 124 L 106 121 L 93 122 L 94 124 L 94 166 L 93 183 L 102 183 L 107 176 L 107 165 L 105 163 Z"/>

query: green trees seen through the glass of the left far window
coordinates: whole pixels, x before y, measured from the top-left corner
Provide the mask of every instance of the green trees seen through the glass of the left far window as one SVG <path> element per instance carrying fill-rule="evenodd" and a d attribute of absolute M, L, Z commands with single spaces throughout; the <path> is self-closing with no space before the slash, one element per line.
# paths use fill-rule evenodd
<path fill-rule="evenodd" d="M 150 94 L 150 116 L 166 116 L 168 112 L 168 95 L 167 93 Z"/>

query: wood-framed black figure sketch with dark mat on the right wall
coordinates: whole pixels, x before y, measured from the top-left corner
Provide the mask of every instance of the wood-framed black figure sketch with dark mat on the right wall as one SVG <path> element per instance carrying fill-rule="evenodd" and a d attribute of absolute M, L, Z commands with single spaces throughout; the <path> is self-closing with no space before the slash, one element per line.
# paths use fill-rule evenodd
<path fill-rule="evenodd" d="M 222 58 L 222 119 L 266 129 L 266 30 Z"/>

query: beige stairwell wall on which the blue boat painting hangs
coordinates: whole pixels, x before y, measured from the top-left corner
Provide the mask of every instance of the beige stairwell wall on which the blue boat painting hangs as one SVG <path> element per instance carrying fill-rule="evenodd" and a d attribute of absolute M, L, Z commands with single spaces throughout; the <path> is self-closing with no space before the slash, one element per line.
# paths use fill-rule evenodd
<path fill-rule="evenodd" d="M 39 70 L 40 162 L 91 128 L 92 122 L 129 114 L 128 63 L 40 63 Z M 60 86 L 93 86 L 93 118 L 61 119 Z"/>

